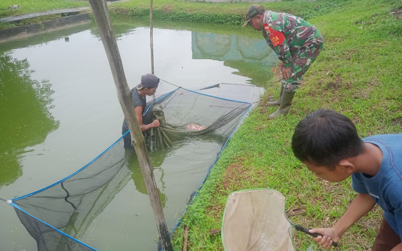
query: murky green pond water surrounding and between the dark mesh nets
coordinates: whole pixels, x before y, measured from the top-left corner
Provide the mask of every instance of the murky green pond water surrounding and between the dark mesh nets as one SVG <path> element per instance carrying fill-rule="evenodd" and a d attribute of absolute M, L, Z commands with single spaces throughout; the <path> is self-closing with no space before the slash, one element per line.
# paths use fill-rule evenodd
<path fill-rule="evenodd" d="M 151 72 L 148 21 L 115 20 L 114 30 L 132 88 Z M 277 62 L 261 34 L 241 27 L 155 22 L 153 33 L 155 75 L 191 90 L 217 83 L 261 87 Z M 161 82 L 157 95 L 175 88 Z M 222 90 L 232 99 L 244 93 L 236 85 Z M 258 97 L 250 98 L 243 101 Z M 121 137 L 122 122 L 94 24 L 0 44 L 0 198 L 20 197 L 74 173 Z M 193 138 L 150 153 L 170 229 L 223 144 Z M 113 198 L 85 229 L 71 234 L 98 250 L 156 250 L 156 225 L 139 166 L 135 158 L 126 166 Z M 11 205 L 0 201 L 0 215 L 0 250 L 37 249 Z"/>

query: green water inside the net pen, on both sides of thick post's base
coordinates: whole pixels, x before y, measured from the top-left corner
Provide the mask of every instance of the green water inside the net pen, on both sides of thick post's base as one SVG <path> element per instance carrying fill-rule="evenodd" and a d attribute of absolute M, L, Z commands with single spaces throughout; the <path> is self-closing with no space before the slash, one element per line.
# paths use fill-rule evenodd
<path fill-rule="evenodd" d="M 202 138 L 206 139 L 203 141 Z M 216 155 L 207 153 L 219 152 L 223 144 L 222 138 L 209 138 L 190 138 L 168 150 L 149 153 L 169 229 L 177 223 L 191 193 L 198 188 L 214 162 Z M 119 183 L 122 184 L 121 189 L 99 193 L 100 198 L 113 196 L 113 200 L 108 200 L 108 204 L 102 207 L 92 207 L 96 210 L 91 209 L 91 215 L 96 217 L 89 217 L 90 224 L 85 225 L 81 229 L 83 233 L 80 232 L 77 237 L 98 249 L 102 249 L 106 241 L 108 246 L 117 250 L 129 250 L 131 247 L 156 250 L 156 224 L 137 157 L 133 155 L 133 150 L 124 150 L 122 145 L 119 149 L 125 151 L 128 157 L 128 169 L 122 169 L 122 172 L 130 170 L 131 175 L 119 176 L 122 179 Z M 127 183 L 124 177 L 131 177 L 132 181 Z M 76 219 L 73 224 L 80 223 Z"/>

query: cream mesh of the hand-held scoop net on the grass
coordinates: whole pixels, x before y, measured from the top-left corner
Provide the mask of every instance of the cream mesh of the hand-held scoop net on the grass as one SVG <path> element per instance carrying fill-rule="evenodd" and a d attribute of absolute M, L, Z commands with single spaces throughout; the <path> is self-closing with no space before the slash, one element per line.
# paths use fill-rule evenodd
<path fill-rule="evenodd" d="M 284 205 L 283 195 L 271 189 L 231 193 L 222 221 L 225 250 L 295 251 Z"/>

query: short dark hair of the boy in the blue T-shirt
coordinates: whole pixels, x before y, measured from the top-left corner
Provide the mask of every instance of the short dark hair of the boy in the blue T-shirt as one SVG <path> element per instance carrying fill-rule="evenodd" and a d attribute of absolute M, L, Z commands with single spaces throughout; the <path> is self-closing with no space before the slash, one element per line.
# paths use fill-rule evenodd
<path fill-rule="evenodd" d="M 339 161 L 359 155 L 364 143 L 353 122 L 330 109 L 318 109 L 300 120 L 292 137 L 294 156 L 317 166 L 334 168 Z"/>

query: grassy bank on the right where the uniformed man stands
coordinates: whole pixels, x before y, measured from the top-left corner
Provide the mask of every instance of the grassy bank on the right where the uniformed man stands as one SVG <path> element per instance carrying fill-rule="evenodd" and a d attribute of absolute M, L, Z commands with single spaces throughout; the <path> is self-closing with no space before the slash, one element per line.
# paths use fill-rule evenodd
<path fill-rule="evenodd" d="M 392 11 L 400 8 L 399 1 L 351 0 L 309 19 L 324 35 L 325 50 L 296 92 L 288 115 L 267 119 L 276 108 L 265 102 L 279 92 L 277 80 L 267 83 L 261 103 L 230 140 L 183 218 L 190 250 L 223 250 L 220 235 L 210 236 L 208 230 L 221 227 L 226 198 L 236 190 L 277 189 L 286 197 L 287 210 L 303 209 L 290 217 L 295 224 L 326 227 L 339 219 L 355 195 L 351 180 L 332 184 L 314 177 L 292 156 L 292 131 L 306 113 L 328 107 L 349 116 L 361 137 L 402 132 L 402 20 L 394 15 L 399 11 Z M 381 215 L 376 208 L 353 225 L 341 239 L 341 250 L 371 250 Z M 173 239 L 176 250 L 181 231 Z M 301 234 L 295 235 L 295 243 L 300 250 L 312 244 Z"/>

